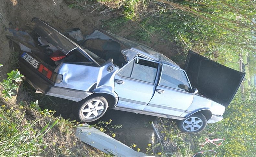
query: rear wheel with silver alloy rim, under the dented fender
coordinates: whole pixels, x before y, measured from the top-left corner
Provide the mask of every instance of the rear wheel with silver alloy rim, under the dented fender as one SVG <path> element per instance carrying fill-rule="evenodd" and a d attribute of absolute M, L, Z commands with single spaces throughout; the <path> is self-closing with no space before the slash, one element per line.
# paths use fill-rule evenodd
<path fill-rule="evenodd" d="M 83 122 L 99 119 L 108 109 L 108 101 L 103 96 L 95 96 L 73 104 L 73 114 Z"/>

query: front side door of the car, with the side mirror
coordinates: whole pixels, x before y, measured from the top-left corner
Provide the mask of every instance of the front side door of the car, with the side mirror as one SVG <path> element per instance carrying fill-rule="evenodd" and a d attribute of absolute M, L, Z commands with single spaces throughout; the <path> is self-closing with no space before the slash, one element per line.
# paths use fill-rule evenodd
<path fill-rule="evenodd" d="M 182 69 L 163 64 L 154 96 L 143 112 L 180 116 L 192 104 L 194 94 L 189 93 L 190 88 Z"/>

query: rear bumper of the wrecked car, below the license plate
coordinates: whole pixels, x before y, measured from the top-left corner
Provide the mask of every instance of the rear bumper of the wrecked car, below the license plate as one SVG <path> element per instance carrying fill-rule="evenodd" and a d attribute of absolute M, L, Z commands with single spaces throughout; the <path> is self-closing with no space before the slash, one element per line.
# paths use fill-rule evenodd
<path fill-rule="evenodd" d="M 80 101 L 93 94 L 92 92 L 56 87 L 53 85 L 53 83 L 50 83 L 50 81 L 44 78 L 44 76 L 35 68 L 33 68 L 27 62 L 22 61 L 22 59 L 19 59 L 19 66 L 20 73 L 25 76 L 24 79 L 36 90 L 39 90 L 45 95 L 56 96 L 72 101 Z"/>

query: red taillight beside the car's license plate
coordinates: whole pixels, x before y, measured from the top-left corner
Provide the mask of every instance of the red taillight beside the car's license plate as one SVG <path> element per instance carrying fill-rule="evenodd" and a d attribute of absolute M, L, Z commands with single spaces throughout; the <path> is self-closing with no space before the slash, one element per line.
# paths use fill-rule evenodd
<path fill-rule="evenodd" d="M 61 81 L 62 81 L 62 74 L 52 72 L 50 69 L 45 67 L 43 64 L 40 64 L 38 71 L 54 83 L 58 84 L 58 83 L 61 83 Z"/>

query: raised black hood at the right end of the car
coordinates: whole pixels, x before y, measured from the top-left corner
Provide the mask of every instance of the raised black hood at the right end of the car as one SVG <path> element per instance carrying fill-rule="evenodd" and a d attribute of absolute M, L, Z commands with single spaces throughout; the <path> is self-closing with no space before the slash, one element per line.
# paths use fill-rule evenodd
<path fill-rule="evenodd" d="M 245 73 L 228 68 L 189 51 L 185 71 L 192 86 L 205 97 L 227 107 L 237 93 Z"/>

